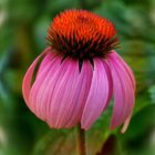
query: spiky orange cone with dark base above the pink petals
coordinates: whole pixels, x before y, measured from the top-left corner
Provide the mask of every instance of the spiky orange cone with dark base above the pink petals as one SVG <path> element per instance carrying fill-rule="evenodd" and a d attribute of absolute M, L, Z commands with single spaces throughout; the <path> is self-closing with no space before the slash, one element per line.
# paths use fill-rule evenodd
<path fill-rule="evenodd" d="M 79 60 L 105 56 L 118 43 L 111 21 L 84 10 L 66 10 L 56 16 L 48 40 L 64 56 Z"/>

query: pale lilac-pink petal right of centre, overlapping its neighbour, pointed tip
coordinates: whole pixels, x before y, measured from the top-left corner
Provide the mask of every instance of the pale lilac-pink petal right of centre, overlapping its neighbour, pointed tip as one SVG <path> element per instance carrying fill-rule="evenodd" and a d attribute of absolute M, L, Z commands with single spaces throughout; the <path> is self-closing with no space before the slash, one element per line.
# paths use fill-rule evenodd
<path fill-rule="evenodd" d="M 107 70 L 104 60 L 94 59 L 92 83 L 81 121 L 85 130 L 95 122 L 107 104 L 111 92 Z"/>

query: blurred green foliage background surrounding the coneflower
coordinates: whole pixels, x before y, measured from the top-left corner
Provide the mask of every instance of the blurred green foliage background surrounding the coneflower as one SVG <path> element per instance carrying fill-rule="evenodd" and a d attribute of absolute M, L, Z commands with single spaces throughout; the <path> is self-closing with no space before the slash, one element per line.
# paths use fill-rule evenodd
<path fill-rule="evenodd" d="M 137 81 L 127 132 L 108 130 L 110 106 L 86 133 L 87 155 L 155 155 L 155 0 L 0 0 L 0 155 L 76 155 L 75 128 L 50 130 L 21 93 L 28 66 L 46 46 L 53 17 L 70 8 L 115 23 L 117 52 Z"/>

